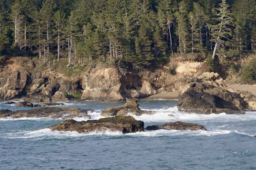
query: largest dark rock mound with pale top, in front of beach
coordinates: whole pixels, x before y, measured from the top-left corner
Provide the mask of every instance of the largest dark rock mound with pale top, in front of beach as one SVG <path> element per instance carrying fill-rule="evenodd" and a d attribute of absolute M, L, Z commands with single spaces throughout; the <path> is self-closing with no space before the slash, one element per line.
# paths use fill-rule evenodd
<path fill-rule="evenodd" d="M 179 110 L 203 114 L 243 113 L 248 103 L 236 92 L 228 90 L 221 79 L 216 78 L 216 74 L 209 73 L 180 87 Z"/>

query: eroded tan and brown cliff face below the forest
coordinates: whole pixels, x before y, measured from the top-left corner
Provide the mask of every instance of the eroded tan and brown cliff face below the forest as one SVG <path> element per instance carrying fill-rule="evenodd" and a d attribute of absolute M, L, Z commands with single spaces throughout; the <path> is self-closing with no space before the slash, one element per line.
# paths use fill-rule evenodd
<path fill-rule="evenodd" d="M 207 71 L 205 62 L 175 61 L 177 74 L 168 73 L 173 61 L 160 69 L 132 70 L 125 75 L 113 66 L 93 67 L 87 72 L 64 76 L 54 69 L 37 71 L 36 59 L 11 57 L 0 67 L 0 99 L 63 101 L 67 94 L 81 99 L 119 101 L 173 92 L 184 84 L 186 76 Z M 77 95 L 79 94 L 79 95 Z"/>

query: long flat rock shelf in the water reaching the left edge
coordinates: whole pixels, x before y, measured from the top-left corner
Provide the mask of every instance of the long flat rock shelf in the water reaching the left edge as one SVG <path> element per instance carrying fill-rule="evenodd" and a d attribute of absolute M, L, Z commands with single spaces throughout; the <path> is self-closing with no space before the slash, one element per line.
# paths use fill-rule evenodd
<path fill-rule="evenodd" d="M 19 110 L 10 111 L 2 110 L 0 111 L 0 118 L 61 118 L 67 120 L 75 117 L 83 117 L 90 119 L 88 111 L 91 110 L 81 110 L 79 108 L 36 108 L 31 110 Z"/>

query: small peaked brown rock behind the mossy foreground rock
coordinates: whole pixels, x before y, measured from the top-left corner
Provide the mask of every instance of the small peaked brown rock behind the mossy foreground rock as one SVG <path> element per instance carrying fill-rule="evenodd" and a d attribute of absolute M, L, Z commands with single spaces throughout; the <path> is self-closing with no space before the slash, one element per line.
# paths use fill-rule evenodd
<path fill-rule="evenodd" d="M 123 106 L 117 108 L 106 108 L 100 114 L 102 117 L 127 116 L 143 114 L 154 114 L 152 111 L 143 111 L 139 108 L 138 99 L 127 99 Z"/>

